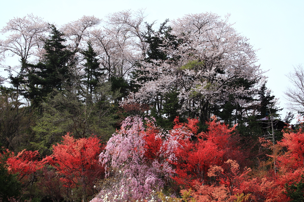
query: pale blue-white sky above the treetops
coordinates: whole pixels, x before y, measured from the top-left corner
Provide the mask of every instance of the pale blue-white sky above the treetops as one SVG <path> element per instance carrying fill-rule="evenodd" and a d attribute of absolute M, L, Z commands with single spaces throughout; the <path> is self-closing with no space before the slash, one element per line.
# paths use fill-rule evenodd
<path fill-rule="evenodd" d="M 267 87 L 279 98 L 280 107 L 285 108 L 283 97 L 287 86 L 285 76 L 294 66 L 304 63 L 304 1 L 246 1 L 246 0 L 11 0 L 1 2 L 0 28 L 14 17 L 33 13 L 45 21 L 58 26 L 78 20 L 83 15 L 105 16 L 123 10 L 145 9 L 146 21 L 173 20 L 186 14 L 212 12 L 224 17 L 230 14 L 230 23 L 241 35 L 249 39 L 257 49 L 257 64 L 267 71 Z M 158 27 L 155 26 L 154 29 Z M 0 35 L 0 39 L 3 36 Z M 0 72 L 0 74 L 4 74 Z M 282 111 L 284 118 L 286 109 Z"/>

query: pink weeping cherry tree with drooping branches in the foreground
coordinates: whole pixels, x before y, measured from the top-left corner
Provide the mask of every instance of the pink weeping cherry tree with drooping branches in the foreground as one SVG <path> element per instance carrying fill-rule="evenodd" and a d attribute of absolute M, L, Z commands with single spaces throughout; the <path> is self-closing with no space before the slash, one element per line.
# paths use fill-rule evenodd
<path fill-rule="evenodd" d="M 161 133 L 153 120 L 145 122 L 147 129 L 142 118 L 127 117 L 108 141 L 100 160 L 114 182 L 104 183 L 93 201 L 144 199 L 163 187 L 162 177 L 168 178 L 173 172 L 161 155 Z"/>

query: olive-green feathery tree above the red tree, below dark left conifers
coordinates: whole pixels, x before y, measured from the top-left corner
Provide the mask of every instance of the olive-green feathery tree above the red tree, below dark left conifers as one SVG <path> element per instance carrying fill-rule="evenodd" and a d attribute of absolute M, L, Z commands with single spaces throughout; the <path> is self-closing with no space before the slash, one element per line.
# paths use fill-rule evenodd
<path fill-rule="evenodd" d="M 115 132 L 112 102 L 117 97 L 111 92 L 109 83 L 95 89 L 92 102 L 88 103 L 83 103 L 76 88 L 54 90 L 41 104 L 44 110 L 33 127 L 33 147 L 42 155 L 50 155 L 52 145 L 60 142 L 67 133 L 72 133 L 75 138 L 94 134 L 107 141 Z"/>

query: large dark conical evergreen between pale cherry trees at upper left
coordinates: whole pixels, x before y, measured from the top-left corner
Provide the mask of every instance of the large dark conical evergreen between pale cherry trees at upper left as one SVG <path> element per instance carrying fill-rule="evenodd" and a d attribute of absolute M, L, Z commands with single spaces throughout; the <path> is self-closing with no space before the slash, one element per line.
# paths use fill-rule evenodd
<path fill-rule="evenodd" d="M 33 106 L 39 106 L 54 89 L 63 89 L 65 82 L 70 79 L 70 59 L 74 52 L 62 44 L 65 41 L 62 38 L 64 34 L 54 25 L 50 25 L 50 28 L 50 39 L 44 42 L 44 59 L 36 65 L 27 64 L 30 67 L 26 83 L 29 90 L 23 95 L 31 100 Z"/>

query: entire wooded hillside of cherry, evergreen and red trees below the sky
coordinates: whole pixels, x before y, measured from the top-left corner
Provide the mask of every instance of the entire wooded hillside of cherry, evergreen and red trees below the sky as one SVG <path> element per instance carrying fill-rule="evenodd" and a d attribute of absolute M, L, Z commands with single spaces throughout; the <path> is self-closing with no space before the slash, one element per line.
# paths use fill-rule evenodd
<path fill-rule="evenodd" d="M 7 22 L 3 202 L 304 200 L 303 120 L 280 117 L 229 16 L 155 27 L 142 10 Z"/>

